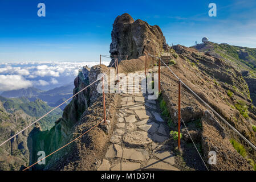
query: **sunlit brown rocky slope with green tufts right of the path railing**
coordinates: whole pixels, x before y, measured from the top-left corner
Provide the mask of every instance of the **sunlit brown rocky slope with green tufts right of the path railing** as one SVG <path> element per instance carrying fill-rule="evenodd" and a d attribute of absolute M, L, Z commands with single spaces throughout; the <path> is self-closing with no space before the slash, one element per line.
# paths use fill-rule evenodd
<path fill-rule="evenodd" d="M 180 45 L 172 48 L 177 55 L 171 56 L 176 64 L 170 66 L 170 69 L 239 133 L 256 144 L 255 131 L 252 127 L 256 123 L 256 112 L 254 109 L 250 109 L 254 107 L 250 101 L 247 83 L 241 73 L 221 57 Z M 177 79 L 165 67 L 161 68 L 161 84 L 166 90 L 164 92 L 165 101 L 169 102 L 166 97 L 168 94 L 177 108 Z M 205 161 L 208 161 L 210 151 L 215 151 L 217 154 L 217 164 L 208 165 L 210 170 L 253 169 L 251 166 L 255 164 L 251 162 L 250 166 L 247 160 L 256 161 L 255 151 L 251 150 L 241 137 L 235 134 L 220 118 L 209 112 L 209 108 L 183 86 L 181 87 L 181 101 L 181 117 L 194 142 L 200 146 L 198 148 Z M 168 103 L 168 109 L 174 126 L 177 126 L 177 114 L 170 103 Z M 182 129 L 182 136 L 183 140 L 191 143 L 185 129 Z M 238 144 L 230 142 L 234 140 Z M 239 154 L 241 151 L 233 147 L 233 145 L 237 147 L 239 144 L 242 144 L 243 150 L 246 151 L 246 154 L 241 154 L 243 157 Z M 186 145 L 184 148 L 184 156 L 186 156 L 188 148 Z"/>

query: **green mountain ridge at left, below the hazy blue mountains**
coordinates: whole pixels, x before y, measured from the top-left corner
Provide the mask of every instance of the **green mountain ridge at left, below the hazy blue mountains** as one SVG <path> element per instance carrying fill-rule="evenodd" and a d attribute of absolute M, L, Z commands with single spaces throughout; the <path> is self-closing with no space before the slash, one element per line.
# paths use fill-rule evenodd
<path fill-rule="evenodd" d="M 26 97 L 5 98 L 0 96 L 0 101 L 8 113 L 14 113 L 15 111 L 22 110 L 27 115 L 35 118 L 40 118 L 42 115 L 53 109 L 53 107 L 48 106 L 46 102 L 40 99 L 30 101 Z M 51 127 L 55 125 L 55 121 L 62 117 L 62 113 L 62 110 L 57 108 L 45 118 L 41 119 L 39 124 L 42 130 L 50 130 Z"/>

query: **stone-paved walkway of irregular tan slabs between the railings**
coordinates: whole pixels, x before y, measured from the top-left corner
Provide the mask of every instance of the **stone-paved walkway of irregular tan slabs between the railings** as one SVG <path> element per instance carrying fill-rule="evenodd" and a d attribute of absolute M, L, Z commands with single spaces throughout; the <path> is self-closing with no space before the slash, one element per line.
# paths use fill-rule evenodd
<path fill-rule="evenodd" d="M 143 72 L 136 72 L 143 74 Z M 128 90 L 133 85 L 127 85 Z M 168 126 L 161 118 L 156 100 L 147 94 L 121 94 L 117 107 L 117 122 L 111 144 L 98 171 L 178 170 L 174 167 L 173 152 L 165 141 Z"/>

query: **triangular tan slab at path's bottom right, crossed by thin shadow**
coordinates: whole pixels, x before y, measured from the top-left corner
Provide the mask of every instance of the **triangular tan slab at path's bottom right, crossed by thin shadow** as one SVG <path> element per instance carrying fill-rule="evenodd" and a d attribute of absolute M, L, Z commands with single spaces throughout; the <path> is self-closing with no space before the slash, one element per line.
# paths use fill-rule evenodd
<path fill-rule="evenodd" d="M 165 170 L 165 171 L 180 171 L 180 169 L 171 166 L 170 164 L 159 162 L 156 159 L 150 159 L 147 166 L 143 170 Z"/>

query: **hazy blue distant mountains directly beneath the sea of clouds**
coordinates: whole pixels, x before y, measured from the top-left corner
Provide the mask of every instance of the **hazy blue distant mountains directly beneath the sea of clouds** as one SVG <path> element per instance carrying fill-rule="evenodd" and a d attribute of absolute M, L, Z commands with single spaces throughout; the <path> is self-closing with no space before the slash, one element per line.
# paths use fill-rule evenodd
<path fill-rule="evenodd" d="M 40 100 L 47 102 L 47 105 L 55 107 L 61 104 L 63 101 L 67 100 L 67 98 L 70 98 L 73 95 L 73 89 L 73 84 L 60 86 L 48 91 L 30 87 L 27 89 L 5 91 L 1 94 L 1 96 L 8 98 L 27 97 L 29 101 L 36 101 L 39 98 Z M 69 101 L 66 104 L 60 106 L 60 109 L 63 110 L 68 103 Z"/>

